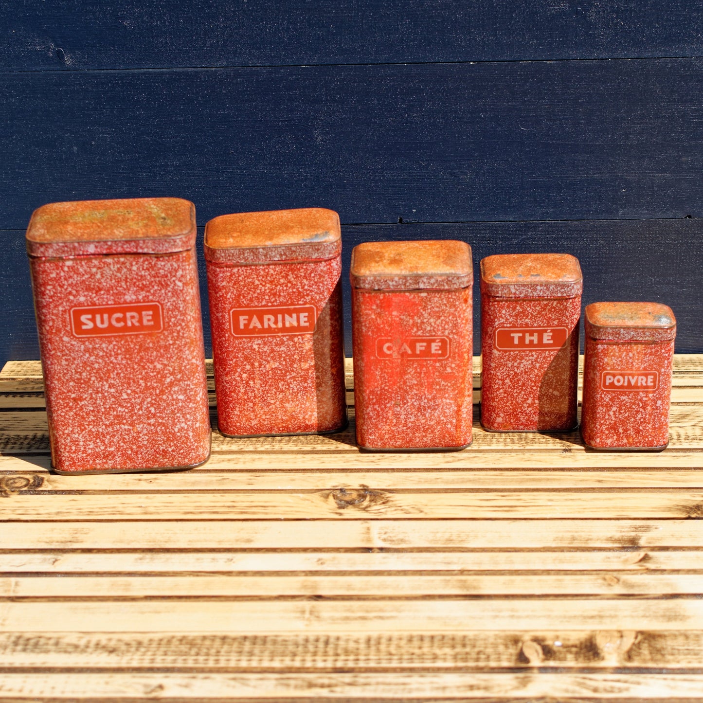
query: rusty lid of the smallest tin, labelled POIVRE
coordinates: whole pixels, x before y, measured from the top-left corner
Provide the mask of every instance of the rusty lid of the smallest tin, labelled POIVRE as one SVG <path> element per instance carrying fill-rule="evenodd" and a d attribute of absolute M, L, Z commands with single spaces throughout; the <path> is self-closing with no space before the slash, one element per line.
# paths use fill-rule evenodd
<path fill-rule="evenodd" d="M 586 305 L 586 335 L 614 342 L 668 342 L 676 337 L 676 318 L 661 303 L 591 303 Z"/>

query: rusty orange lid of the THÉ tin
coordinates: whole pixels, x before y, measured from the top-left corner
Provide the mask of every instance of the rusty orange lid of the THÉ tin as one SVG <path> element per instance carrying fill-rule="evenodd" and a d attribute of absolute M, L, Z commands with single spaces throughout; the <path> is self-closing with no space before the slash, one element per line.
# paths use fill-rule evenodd
<path fill-rule="evenodd" d="M 481 293 L 500 298 L 581 295 L 579 259 L 571 254 L 495 254 L 481 261 Z"/>

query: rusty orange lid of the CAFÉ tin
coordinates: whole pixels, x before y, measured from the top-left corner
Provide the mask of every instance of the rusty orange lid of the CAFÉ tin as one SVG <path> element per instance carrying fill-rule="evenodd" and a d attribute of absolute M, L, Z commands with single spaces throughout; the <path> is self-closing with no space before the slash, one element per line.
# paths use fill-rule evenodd
<path fill-rule="evenodd" d="M 453 239 L 366 242 L 354 247 L 354 288 L 418 290 L 466 288 L 473 283 L 471 247 Z"/>

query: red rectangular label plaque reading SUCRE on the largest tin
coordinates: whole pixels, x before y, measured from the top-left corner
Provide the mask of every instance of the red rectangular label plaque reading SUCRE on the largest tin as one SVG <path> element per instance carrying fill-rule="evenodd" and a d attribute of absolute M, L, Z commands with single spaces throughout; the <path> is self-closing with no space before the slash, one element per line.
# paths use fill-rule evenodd
<path fill-rule="evenodd" d="M 127 303 L 71 308 L 71 329 L 76 337 L 141 335 L 163 330 L 160 303 Z"/>

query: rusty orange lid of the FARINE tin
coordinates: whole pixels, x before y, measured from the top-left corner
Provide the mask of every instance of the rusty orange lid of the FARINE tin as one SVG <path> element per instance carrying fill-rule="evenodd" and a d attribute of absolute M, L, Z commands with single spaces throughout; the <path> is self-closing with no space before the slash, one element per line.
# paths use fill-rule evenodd
<path fill-rule="evenodd" d="M 238 212 L 205 225 L 205 259 L 218 264 L 315 261 L 341 251 L 340 217 L 324 207 Z"/>

